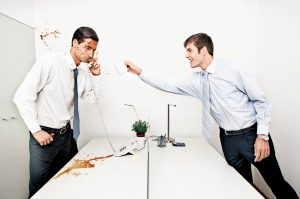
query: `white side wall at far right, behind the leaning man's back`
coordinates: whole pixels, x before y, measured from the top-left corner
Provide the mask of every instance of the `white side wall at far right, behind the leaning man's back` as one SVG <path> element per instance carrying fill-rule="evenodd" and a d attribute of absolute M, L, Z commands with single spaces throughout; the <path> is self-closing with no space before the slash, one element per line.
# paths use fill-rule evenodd
<path fill-rule="evenodd" d="M 259 3 L 259 80 L 272 103 L 271 135 L 282 173 L 300 195 L 300 2 Z M 266 192 L 268 188 L 264 188 Z"/>

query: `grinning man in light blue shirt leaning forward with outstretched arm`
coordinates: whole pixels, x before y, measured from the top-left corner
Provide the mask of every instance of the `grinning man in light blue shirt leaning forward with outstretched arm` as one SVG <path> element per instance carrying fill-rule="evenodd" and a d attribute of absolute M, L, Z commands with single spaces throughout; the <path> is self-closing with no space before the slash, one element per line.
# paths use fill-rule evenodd
<path fill-rule="evenodd" d="M 201 100 L 203 109 L 207 109 L 208 113 L 210 111 L 220 127 L 226 161 L 249 183 L 253 184 L 253 164 L 277 198 L 298 198 L 278 165 L 269 136 L 270 104 L 256 80 L 245 73 L 238 63 L 216 61 L 213 58 L 213 42 L 207 34 L 190 36 L 184 47 L 191 67 L 202 70 L 177 81 L 170 82 L 148 74 L 131 61 L 125 61 L 125 64 L 129 72 L 139 75 L 144 82 L 157 89 Z M 209 92 L 205 92 L 205 81 Z M 208 126 L 206 120 L 202 121 L 203 126 Z M 210 137 L 209 128 L 203 128 L 202 133 L 205 138 Z"/>

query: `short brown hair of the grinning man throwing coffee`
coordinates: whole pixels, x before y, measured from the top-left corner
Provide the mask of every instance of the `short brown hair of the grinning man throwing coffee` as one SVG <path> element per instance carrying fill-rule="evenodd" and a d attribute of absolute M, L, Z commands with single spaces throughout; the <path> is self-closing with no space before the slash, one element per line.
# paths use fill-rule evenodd
<path fill-rule="evenodd" d="M 210 36 L 208 36 L 207 34 L 198 33 L 190 36 L 185 40 L 184 47 L 186 48 L 186 46 L 190 43 L 193 43 L 197 47 L 198 52 L 200 52 L 200 50 L 205 46 L 208 53 L 211 56 L 214 55 L 214 44 Z"/>

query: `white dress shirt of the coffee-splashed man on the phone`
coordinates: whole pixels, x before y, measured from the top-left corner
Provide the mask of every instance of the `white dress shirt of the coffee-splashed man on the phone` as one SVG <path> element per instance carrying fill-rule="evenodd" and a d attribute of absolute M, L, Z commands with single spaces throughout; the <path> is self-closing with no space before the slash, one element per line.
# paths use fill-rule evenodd
<path fill-rule="evenodd" d="M 95 103 L 91 74 L 84 66 L 78 67 L 78 96 Z M 40 125 L 62 128 L 73 118 L 75 68 L 70 52 L 49 53 L 38 59 L 28 72 L 15 93 L 14 102 L 32 133 L 41 130 Z M 98 77 L 92 80 L 97 88 Z"/>

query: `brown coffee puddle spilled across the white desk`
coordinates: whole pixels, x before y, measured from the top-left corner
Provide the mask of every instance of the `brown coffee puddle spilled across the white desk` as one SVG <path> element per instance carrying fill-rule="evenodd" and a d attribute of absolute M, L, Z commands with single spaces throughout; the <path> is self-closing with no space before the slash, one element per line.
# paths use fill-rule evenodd
<path fill-rule="evenodd" d="M 65 169 L 61 173 L 57 174 L 57 176 L 55 176 L 54 179 L 57 179 L 64 174 L 69 174 L 72 170 L 75 170 L 75 169 L 93 168 L 93 167 L 95 167 L 95 164 L 93 164 L 92 161 L 104 160 L 104 159 L 110 158 L 112 156 L 113 155 L 94 157 L 94 158 L 91 158 L 88 160 L 75 159 L 71 166 L 69 166 L 67 169 Z M 77 173 L 74 173 L 73 175 L 78 176 L 78 175 L 80 175 L 80 173 L 77 172 Z"/>

